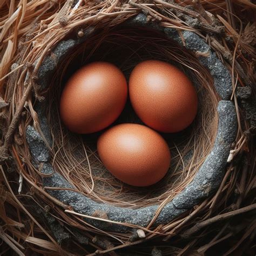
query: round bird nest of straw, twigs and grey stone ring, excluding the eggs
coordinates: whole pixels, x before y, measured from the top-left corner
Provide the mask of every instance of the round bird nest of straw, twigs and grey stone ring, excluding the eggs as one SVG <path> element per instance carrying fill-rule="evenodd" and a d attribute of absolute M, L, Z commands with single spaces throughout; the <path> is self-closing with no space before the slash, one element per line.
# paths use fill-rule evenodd
<path fill-rule="evenodd" d="M 183 239 L 168 245 L 174 255 L 193 246 L 205 252 L 227 235 L 228 222 L 215 236 L 204 227 L 255 209 L 249 65 L 254 49 L 246 34 L 235 37 L 224 18 L 211 14 L 211 5 L 205 11 L 198 1 L 68 1 L 44 7 L 31 1 L 20 7 L 12 16 L 3 11 L 1 19 L 18 26 L 9 35 L 4 25 L 1 38 L 1 238 L 7 245 L 21 255 L 104 254 L 141 242 L 149 252 L 147 241 L 154 239 L 155 245 L 163 240 L 152 251 L 159 253 L 164 241 L 179 234 Z M 247 57 L 235 59 L 237 52 Z M 66 80 L 86 63 L 111 62 L 128 79 L 146 59 L 183 70 L 196 87 L 199 108 L 190 127 L 162 134 L 172 153 L 164 179 L 136 188 L 105 169 L 96 150 L 99 133 L 78 135 L 65 128 L 59 98 Z M 129 102 L 114 124 L 127 122 L 140 123 Z M 237 233 L 253 232 L 239 228 Z M 205 237 L 200 245 L 193 240 L 199 231 Z M 235 245 L 226 251 L 234 250 Z"/>

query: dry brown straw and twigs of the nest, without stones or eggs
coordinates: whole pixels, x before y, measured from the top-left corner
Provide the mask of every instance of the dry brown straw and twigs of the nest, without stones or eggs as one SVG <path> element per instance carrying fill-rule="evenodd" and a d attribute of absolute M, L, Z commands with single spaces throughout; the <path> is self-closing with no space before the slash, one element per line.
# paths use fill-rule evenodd
<path fill-rule="evenodd" d="M 161 250 L 169 255 L 186 252 L 199 255 L 220 250 L 216 245 L 223 242 L 226 248 L 219 253 L 225 255 L 243 248 L 253 250 L 250 248 L 255 219 L 251 211 L 256 207 L 253 204 L 252 118 L 242 109 L 235 88 L 248 88 L 255 83 L 255 25 L 249 23 L 255 5 L 246 0 L 75 2 L 0 1 L 0 200 L 3 203 L 0 207 L 0 237 L 3 240 L 0 253 L 10 255 L 13 250 L 19 255 L 32 251 L 51 255 L 114 255 L 114 251 L 124 248 L 127 251 L 128 247 L 133 254 L 138 251 L 156 254 Z M 219 190 L 167 225 L 156 227 L 154 219 L 146 228 L 120 224 L 137 228 L 139 240 L 134 241 L 133 233 L 105 232 L 91 226 L 86 218 L 109 224 L 111 221 L 102 214 L 95 217 L 79 215 L 45 191 L 42 174 L 31 163 L 25 129 L 32 124 L 40 132 L 35 102 L 49 102 L 47 118 L 53 137 L 53 144 L 49 145 L 53 167 L 76 191 L 93 200 L 131 208 L 160 204 L 160 212 L 167 201 L 190 183 L 212 149 L 218 125 L 219 97 L 210 73 L 197 59 L 205 53 L 194 55 L 158 32 L 117 26 L 139 12 L 161 26 L 198 33 L 217 52 L 232 73 L 232 100 L 239 129 Z M 44 57 L 63 38 L 68 35 L 83 37 L 88 28 L 98 32 L 60 64 L 50 89 L 39 92 L 36 73 Z M 150 193 L 122 184 L 108 174 L 98 159 L 96 138 L 71 134 L 58 115 L 61 86 L 73 65 L 108 60 L 117 63 L 128 77 L 136 63 L 149 58 L 167 60 L 183 69 L 196 85 L 200 100 L 199 113 L 192 127 L 179 136 L 166 137 L 173 153 L 172 166 L 166 178 L 153 186 Z M 37 64 L 33 65 L 37 59 Z M 254 90 L 252 87 L 251 98 L 255 96 Z M 137 122 L 136 117 L 128 113 L 131 113 L 129 107 L 118 122 Z M 244 214 L 244 221 L 236 224 L 239 214 Z M 56 236 L 56 228 L 63 231 L 68 243 L 58 244 L 60 234 Z"/>

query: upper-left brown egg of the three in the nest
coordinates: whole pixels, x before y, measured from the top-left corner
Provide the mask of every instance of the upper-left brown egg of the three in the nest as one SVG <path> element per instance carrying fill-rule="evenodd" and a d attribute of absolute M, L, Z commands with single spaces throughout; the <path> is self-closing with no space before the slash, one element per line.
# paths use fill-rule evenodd
<path fill-rule="evenodd" d="M 117 119 L 126 98 L 122 71 L 111 63 L 94 62 L 77 70 L 66 83 L 60 116 L 72 132 L 97 132 Z"/>

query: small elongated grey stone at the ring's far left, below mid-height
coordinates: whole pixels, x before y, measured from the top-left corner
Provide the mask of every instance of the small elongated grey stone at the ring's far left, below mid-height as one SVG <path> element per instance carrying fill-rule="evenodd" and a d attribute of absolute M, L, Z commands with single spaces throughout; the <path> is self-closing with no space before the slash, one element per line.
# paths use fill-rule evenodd
<path fill-rule="evenodd" d="M 26 128 L 26 141 L 29 144 L 33 159 L 37 162 L 48 162 L 50 160 L 50 151 L 45 145 L 43 138 L 32 126 Z"/>

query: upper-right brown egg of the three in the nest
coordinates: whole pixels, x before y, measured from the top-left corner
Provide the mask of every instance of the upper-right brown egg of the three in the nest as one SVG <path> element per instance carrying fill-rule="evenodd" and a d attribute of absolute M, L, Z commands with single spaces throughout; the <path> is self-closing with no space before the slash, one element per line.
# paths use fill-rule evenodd
<path fill-rule="evenodd" d="M 146 60 L 133 69 L 129 95 L 139 118 L 160 132 L 181 131 L 197 114 L 197 93 L 190 79 L 160 60 Z"/>

